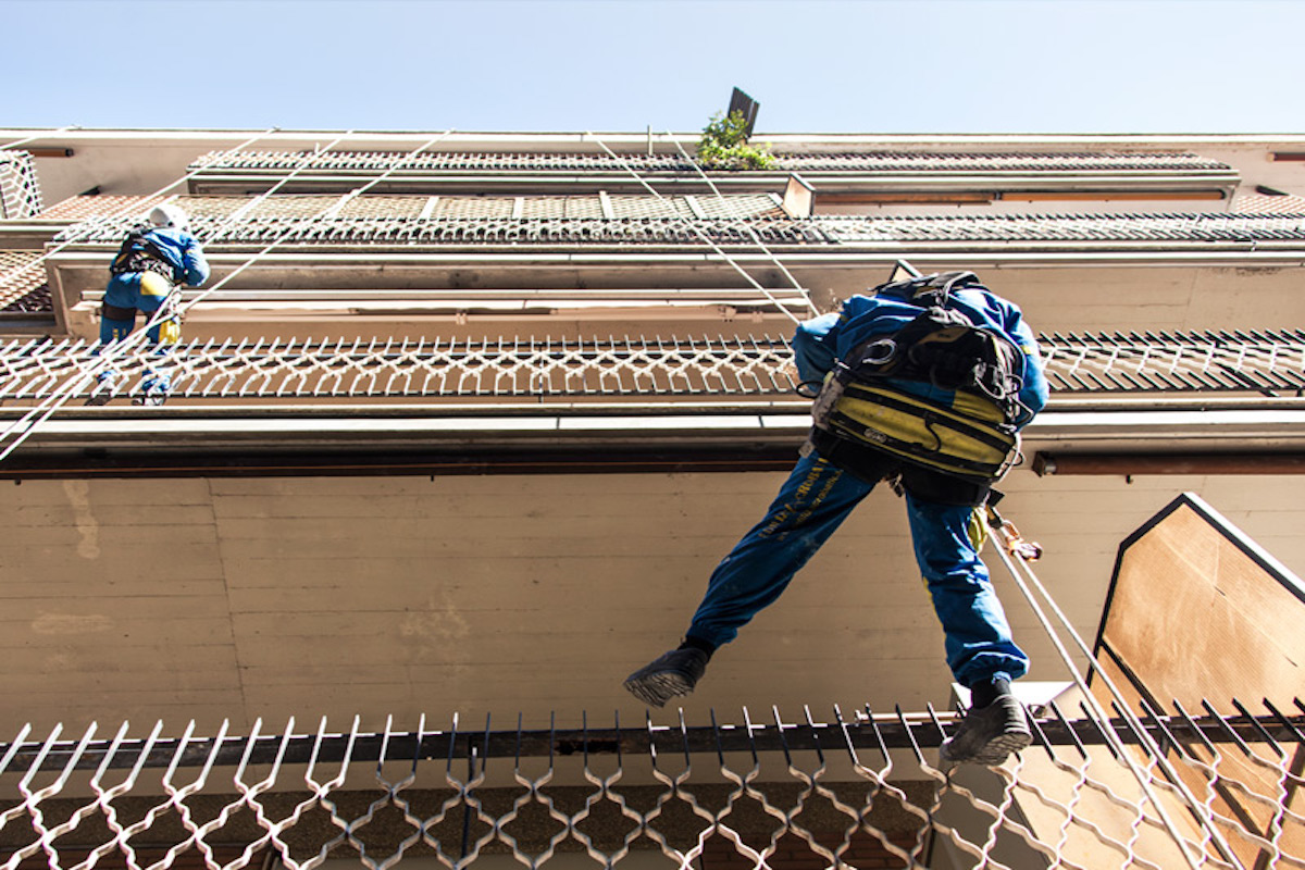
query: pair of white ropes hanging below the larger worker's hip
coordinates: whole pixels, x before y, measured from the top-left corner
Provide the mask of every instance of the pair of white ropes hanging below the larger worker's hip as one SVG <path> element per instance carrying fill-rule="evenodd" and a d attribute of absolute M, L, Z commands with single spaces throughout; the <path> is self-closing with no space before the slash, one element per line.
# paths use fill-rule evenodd
<path fill-rule="evenodd" d="M 1096 674 L 1105 681 L 1105 685 L 1109 689 L 1111 695 L 1116 700 L 1116 707 L 1118 707 L 1121 715 L 1129 723 L 1129 727 L 1138 734 L 1138 738 L 1144 745 L 1147 753 L 1154 759 L 1156 759 L 1156 763 L 1164 771 L 1165 777 L 1171 781 L 1174 789 L 1182 796 L 1182 800 L 1188 803 L 1188 809 L 1193 813 L 1193 815 L 1197 817 L 1201 826 L 1206 828 L 1211 840 L 1214 840 L 1215 847 L 1219 849 L 1220 854 L 1223 854 L 1223 857 L 1229 862 L 1232 862 L 1235 866 L 1244 867 L 1241 861 L 1236 857 L 1236 854 L 1224 841 L 1223 836 L 1215 828 L 1212 820 L 1208 819 L 1206 814 L 1201 811 L 1201 805 L 1197 802 L 1191 792 L 1188 790 L 1188 787 L 1178 777 L 1177 772 L 1169 764 L 1168 759 L 1165 759 L 1164 751 L 1156 745 L 1150 732 L 1146 729 L 1146 727 L 1142 725 L 1141 720 L 1138 720 L 1137 716 L 1133 713 L 1133 711 L 1129 707 L 1128 699 L 1124 698 L 1122 693 L 1120 693 L 1118 686 L 1114 685 L 1114 681 L 1111 680 L 1109 674 L 1107 674 L 1092 659 L 1092 653 L 1088 650 L 1087 644 L 1083 642 L 1082 635 L 1079 635 L 1079 633 L 1074 629 L 1073 623 L 1070 623 L 1070 621 L 1065 617 L 1065 613 L 1060 609 L 1060 605 L 1056 604 L 1056 600 L 1051 596 L 1051 593 L 1048 593 L 1047 588 L 1037 579 L 1037 575 L 1034 573 L 1034 569 L 1030 567 L 1028 565 L 1028 560 L 1023 554 L 1015 553 L 1013 561 L 1010 553 L 1007 552 L 1007 547 L 1009 549 L 1013 550 L 1014 543 L 1011 539 L 1011 532 L 1007 531 L 1006 524 L 1004 523 L 1002 526 L 998 526 L 996 528 L 996 533 L 998 539 L 997 543 L 1001 544 L 1001 547 L 994 548 L 997 550 L 997 554 L 1001 557 L 1002 563 L 1010 573 L 1011 579 L 1015 580 L 1015 586 L 1019 587 L 1019 591 L 1024 596 L 1024 600 L 1028 603 L 1028 607 L 1032 608 L 1034 616 L 1037 617 L 1037 621 L 1041 623 L 1043 630 L 1047 633 L 1047 637 L 1051 639 L 1052 644 L 1056 647 L 1056 651 L 1060 653 L 1061 661 L 1064 661 L 1065 667 L 1069 668 L 1070 676 L 1074 680 L 1074 685 L 1078 686 L 1079 691 L 1083 695 L 1084 708 L 1088 711 L 1090 716 L 1098 720 L 1096 723 L 1098 728 L 1105 736 L 1107 742 L 1109 742 L 1111 747 L 1114 750 L 1114 754 L 1128 766 L 1134 779 L 1137 779 L 1138 785 L 1142 788 L 1142 792 L 1146 794 L 1147 800 L 1155 807 L 1156 814 L 1160 817 L 1160 822 L 1164 826 L 1165 831 L 1178 845 L 1178 850 L 1182 852 L 1182 857 L 1186 860 L 1188 866 L 1190 866 L 1191 870 L 1199 870 L 1199 865 L 1203 863 L 1203 860 L 1198 861 L 1190 854 L 1189 852 L 1190 845 L 1188 840 L 1178 832 L 1178 828 L 1174 824 L 1173 819 L 1169 818 L 1169 814 L 1164 809 L 1164 805 L 1160 803 L 1160 798 L 1155 794 L 1155 790 L 1147 781 L 1148 780 L 1147 775 L 1141 771 L 1137 762 L 1133 759 L 1133 755 L 1128 751 L 1128 747 L 1118 738 L 1118 734 L 1114 733 L 1114 728 L 1113 725 L 1111 725 L 1109 715 L 1107 715 L 1105 710 L 1100 706 L 1100 702 L 1098 702 L 1096 697 L 1091 693 L 1091 690 L 1088 690 L 1087 678 L 1074 664 L 1074 660 L 1069 655 L 1069 651 L 1065 648 L 1065 644 L 1061 640 L 1060 634 L 1056 631 L 1056 627 L 1052 625 L 1051 620 L 1047 618 L 1047 613 L 1043 610 L 1041 605 L 1035 600 L 1034 593 L 1028 587 L 1028 583 L 1026 583 L 1024 578 L 1021 577 L 1021 573 L 1015 570 L 1015 562 L 1019 563 L 1019 566 L 1027 574 L 1030 582 L 1037 588 L 1039 593 L 1051 605 L 1052 610 L 1056 613 L 1056 618 L 1061 622 L 1061 625 L 1065 626 L 1069 635 L 1074 639 L 1074 643 L 1075 646 L 1078 646 L 1079 652 L 1082 652 L 1087 657 L 1088 670 L 1095 670 Z"/>

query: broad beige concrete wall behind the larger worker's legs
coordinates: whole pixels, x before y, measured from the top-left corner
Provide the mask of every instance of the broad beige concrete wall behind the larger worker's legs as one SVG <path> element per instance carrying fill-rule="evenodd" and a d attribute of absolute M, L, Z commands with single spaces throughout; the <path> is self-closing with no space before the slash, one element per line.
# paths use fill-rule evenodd
<path fill-rule="evenodd" d="M 189 717 L 346 727 L 642 720 L 620 689 L 672 644 L 774 473 L 25 481 L 0 522 L 0 727 Z M 1040 573 L 1091 642 L 1118 541 L 1194 490 L 1296 571 L 1298 481 L 1007 479 L 1004 507 L 1047 547 Z M 1035 656 L 1064 678 L 989 560 Z M 869 702 L 946 704 L 942 638 L 902 506 L 874 493 L 714 661 L 688 702 L 739 720 L 778 703 L 827 719 Z M 672 721 L 671 713 L 658 719 Z M 592 721 L 592 720 L 591 720 Z"/>

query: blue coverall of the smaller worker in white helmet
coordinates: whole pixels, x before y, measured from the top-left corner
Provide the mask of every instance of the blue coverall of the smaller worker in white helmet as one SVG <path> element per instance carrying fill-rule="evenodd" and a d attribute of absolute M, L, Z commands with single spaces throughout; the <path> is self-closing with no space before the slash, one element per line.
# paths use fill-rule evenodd
<path fill-rule="evenodd" d="M 174 286 L 198 287 L 209 279 L 209 263 L 204 258 L 204 248 L 185 230 L 151 227 L 145 232 L 145 239 L 154 243 L 154 249 L 166 258 L 171 277 L 154 271 L 124 271 L 114 275 L 104 288 L 106 305 L 153 314 L 167 300 Z M 120 340 L 134 327 L 134 312 L 130 317 L 114 317 L 107 310 L 100 312 L 99 340 L 102 344 Z M 154 344 L 159 343 L 161 327 L 162 323 L 150 327 L 149 339 Z"/>

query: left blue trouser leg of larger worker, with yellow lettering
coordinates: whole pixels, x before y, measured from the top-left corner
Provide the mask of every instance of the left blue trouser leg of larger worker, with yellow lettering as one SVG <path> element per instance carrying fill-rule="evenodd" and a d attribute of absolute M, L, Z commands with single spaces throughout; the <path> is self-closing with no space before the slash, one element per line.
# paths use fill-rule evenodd
<path fill-rule="evenodd" d="M 803 457 L 766 517 L 713 571 L 688 637 L 713 647 L 733 640 L 873 488 L 816 453 Z"/>

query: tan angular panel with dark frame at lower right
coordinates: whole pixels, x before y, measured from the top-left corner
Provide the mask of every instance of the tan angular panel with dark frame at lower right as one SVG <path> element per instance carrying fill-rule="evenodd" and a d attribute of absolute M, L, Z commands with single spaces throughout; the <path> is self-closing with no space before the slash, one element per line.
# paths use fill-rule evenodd
<path fill-rule="evenodd" d="M 1121 547 L 1096 643 L 1100 673 L 1091 676 L 1094 695 L 1109 704 L 1109 680 L 1133 710 L 1146 699 L 1161 712 L 1177 702 L 1193 716 L 1203 704 L 1224 715 L 1267 713 L 1267 699 L 1295 713 L 1293 700 L 1305 690 L 1305 584 L 1212 507 L 1193 494 L 1171 502 Z M 1185 732 L 1182 732 L 1185 733 Z M 1178 740 L 1184 740 L 1182 733 Z M 1208 797 L 1218 814 L 1272 839 L 1282 809 L 1300 811 L 1300 794 L 1279 797 L 1279 760 L 1298 775 L 1305 764 L 1300 746 L 1287 746 L 1289 759 L 1267 743 L 1246 747 L 1218 743 L 1218 754 L 1197 741 L 1184 751 L 1197 766 L 1176 771 L 1194 793 Z M 1220 780 L 1211 783 L 1216 767 Z M 1221 785 L 1242 784 L 1259 798 Z M 1212 789 L 1212 793 L 1210 790 Z M 1278 845 L 1291 854 L 1305 848 L 1305 831 L 1287 824 Z M 1229 848 L 1245 866 L 1267 860 L 1244 839 Z M 1212 853 L 1211 853 L 1212 856 Z M 1214 857 L 1214 856 L 1212 856 Z"/>

